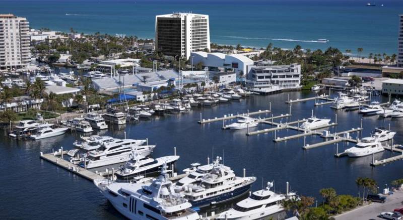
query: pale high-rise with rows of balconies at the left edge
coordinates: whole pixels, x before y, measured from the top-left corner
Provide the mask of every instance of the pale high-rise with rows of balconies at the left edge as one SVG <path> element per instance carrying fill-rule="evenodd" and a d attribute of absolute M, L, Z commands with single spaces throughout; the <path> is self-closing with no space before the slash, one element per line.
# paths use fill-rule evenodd
<path fill-rule="evenodd" d="M 0 70 L 25 68 L 31 60 L 30 56 L 27 19 L 0 14 Z"/>

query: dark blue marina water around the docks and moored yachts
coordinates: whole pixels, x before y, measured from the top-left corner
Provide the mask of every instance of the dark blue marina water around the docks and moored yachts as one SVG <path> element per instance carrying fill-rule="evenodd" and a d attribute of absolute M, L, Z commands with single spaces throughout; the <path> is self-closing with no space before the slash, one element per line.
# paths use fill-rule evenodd
<path fill-rule="evenodd" d="M 180 159 L 178 170 L 189 167 L 190 163 L 207 162 L 207 157 L 222 156 L 224 164 L 232 167 L 237 175 L 242 175 L 246 169 L 247 175 L 254 175 L 258 180 L 252 190 L 261 188 L 261 182 L 275 181 L 276 191 L 285 191 L 285 182 L 289 181 L 291 189 L 300 195 L 320 198 L 321 188 L 333 187 L 338 193 L 357 195 L 355 179 L 359 176 L 374 178 L 380 188 L 391 180 L 400 178 L 403 161 L 396 161 L 385 166 L 370 167 L 372 158 L 335 158 L 335 145 L 328 145 L 311 150 L 303 150 L 304 139 L 274 143 L 274 134 L 246 136 L 245 130 L 222 130 L 222 122 L 199 125 L 200 112 L 203 118 L 221 117 L 229 113 L 244 113 L 267 109 L 272 102 L 274 115 L 288 113 L 287 94 L 291 99 L 313 96 L 311 92 L 289 92 L 270 96 L 252 96 L 241 101 L 232 101 L 214 107 L 195 108 L 188 113 L 173 114 L 152 121 L 140 121 L 125 126 L 113 126 L 102 135 L 118 138 L 149 138 L 150 144 L 157 147 L 154 157 L 173 154 L 177 148 Z M 386 97 L 383 97 L 386 101 Z M 314 101 L 292 104 L 291 121 L 308 118 L 311 109 L 318 117 L 334 120 L 335 111 L 329 105 L 313 107 Z M 261 117 L 263 117 L 262 115 Z M 266 116 L 268 117 L 268 116 Z M 360 127 L 361 117 L 357 112 L 338 112 L 339 126 L 331 128 L 332 132 L 349 130 Z M 382 120 L 378 117 L 364 117 L 363 134 L 368 136 L 374 127 L 387 127 L 390 123 L 392 130 L 398 132 L 394 143 L 402 143 L 403 136 L 401 120 Z M 287 119 L 283 119 L 285 122 Z M 280 120 L 276 120 L 280 121 Z M 229 123 L 229 122 L 227 122 Z M 259 125 L 258 128 L 270 128 Z M 251 129 L 254 130 L 254 129 Z M 96 132 L 95 132 L 96 133 Z M 94 134 L 95 134 L 94 133 Z M 278 137 L 296 134 L 293 130 L 277 133 Z M 39 159 L 40 152 L 49 153 L 52 148 L 71 149 L 72 143 L 79 139 L 80 133 L 66 133 L 55 138 L 40 141 L 18 141 L 8 137 L 0 137 L 0 172 L 1 182 L 0 212 L 1 219 L 31 218 L 31 219 L 115 219 L 122 216 L 113 209 L 99 193 L 92 182 L 78 177 L 62 168 Z M 355 137 L 355 136 L 354 136 Z M 307 143 L 321 142 L 318 136 L 307 137 Z M 339 144 L 339 151 L 351 147 L 351 143 Z M 390 152 L 376 154 L 375 159 L 386 158 Z M 320 200 L 320 199 L 319 199 Z"/>

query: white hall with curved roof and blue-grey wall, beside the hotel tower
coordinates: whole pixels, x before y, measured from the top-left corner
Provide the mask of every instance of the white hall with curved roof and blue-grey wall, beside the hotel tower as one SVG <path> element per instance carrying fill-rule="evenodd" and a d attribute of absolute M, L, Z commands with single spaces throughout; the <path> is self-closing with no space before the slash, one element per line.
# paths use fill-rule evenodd
<path fill-rule="evenodd" d="M 193 65 L 201 64 L 203 67 L 209 67 L 210 71 L 247 73 L 248 65 L 253 65 L 253 60 L 241 54 L 223 54 L 223 53 L 206 53 L 197 51 L 190 53 L 190 59 Z"/>

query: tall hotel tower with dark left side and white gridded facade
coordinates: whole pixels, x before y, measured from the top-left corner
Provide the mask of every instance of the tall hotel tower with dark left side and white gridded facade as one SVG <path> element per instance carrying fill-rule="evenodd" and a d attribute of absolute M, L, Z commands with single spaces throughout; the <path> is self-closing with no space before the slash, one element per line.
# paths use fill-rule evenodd
<path fill-rule="evenodd" d="M 210 51 L 209 16 L 191 13 L 156 16 L 155 48 L 165 55 L 186 59 L 190 52 Z"/>

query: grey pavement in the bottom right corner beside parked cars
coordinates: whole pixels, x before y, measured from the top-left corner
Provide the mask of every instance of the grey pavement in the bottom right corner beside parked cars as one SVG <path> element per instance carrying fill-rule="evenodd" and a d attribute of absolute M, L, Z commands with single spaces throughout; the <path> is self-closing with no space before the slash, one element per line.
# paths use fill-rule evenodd
<path fill-rule="evenodd" d="M 396 191 L 393 195 L 387 196 L 385 203 L 373 202 L 361 208 L 345 212 L 343 214 L 334 216 L 336 220 L 344 219 L 383 219 L 379 214 L 384 211 L 393 211 L 395 208 L 403 207 L 403 191 Z"/>

